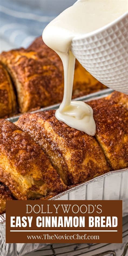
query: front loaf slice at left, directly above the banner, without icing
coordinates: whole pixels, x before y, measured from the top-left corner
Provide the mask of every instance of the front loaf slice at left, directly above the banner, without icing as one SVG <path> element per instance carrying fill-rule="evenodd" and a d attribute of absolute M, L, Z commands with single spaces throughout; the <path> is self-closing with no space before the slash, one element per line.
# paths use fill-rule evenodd
<path fill-rule="evenodd" d="M 66 187 L 29 134 L 4 119 L 0 120 L 0 182 L 19 200 L 59 193 Z"/>

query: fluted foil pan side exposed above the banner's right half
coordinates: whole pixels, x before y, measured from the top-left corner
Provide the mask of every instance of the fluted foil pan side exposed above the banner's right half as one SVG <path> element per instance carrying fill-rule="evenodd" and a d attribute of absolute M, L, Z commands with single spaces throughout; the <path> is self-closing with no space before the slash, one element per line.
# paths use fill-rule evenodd
<path fill-rule="evenodd" d="M 110 171 L 49 200 L 123 200 L 123 217 L 128 214 L 128 168 Z"/>

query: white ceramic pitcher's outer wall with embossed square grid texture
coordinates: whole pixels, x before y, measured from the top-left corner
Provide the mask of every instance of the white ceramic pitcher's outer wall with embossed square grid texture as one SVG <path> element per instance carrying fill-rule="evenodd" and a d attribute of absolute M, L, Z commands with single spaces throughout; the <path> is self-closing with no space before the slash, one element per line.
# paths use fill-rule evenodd
<path fill-rule="evenodd" d="M 71 50 L 97 80 L 128 94 L 127 13 L 95 32 L 73 38 Z"/>

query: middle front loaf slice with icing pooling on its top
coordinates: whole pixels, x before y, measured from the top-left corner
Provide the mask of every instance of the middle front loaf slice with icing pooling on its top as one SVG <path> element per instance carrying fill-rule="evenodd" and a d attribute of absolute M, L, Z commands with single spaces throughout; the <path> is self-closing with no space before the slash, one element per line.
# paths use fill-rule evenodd
<path fill-rule="evenodd" d="M 110 170 L 95 138 L 58 121 L 55 110 L 23 114 L 17 124 L 42 147 L 68 185 Z"/>

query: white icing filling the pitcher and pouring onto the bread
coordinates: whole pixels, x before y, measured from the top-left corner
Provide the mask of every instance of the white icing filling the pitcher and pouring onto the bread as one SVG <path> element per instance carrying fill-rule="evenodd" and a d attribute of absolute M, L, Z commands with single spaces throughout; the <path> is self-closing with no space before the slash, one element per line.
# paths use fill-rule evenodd
<path fill-rule="evenodd" d="M 63 62 L 64 96 L 56 118 L 70 127 L 94 136 L 93 110 L 84 102 L 72 101 L 75 57 L 70 51 L 75 36 L 95 31 L 127 11 L 125 0 L 78 0 L 46 26 L 43 41 L 55 50 Z"/>

